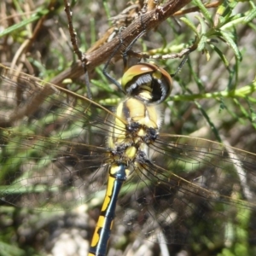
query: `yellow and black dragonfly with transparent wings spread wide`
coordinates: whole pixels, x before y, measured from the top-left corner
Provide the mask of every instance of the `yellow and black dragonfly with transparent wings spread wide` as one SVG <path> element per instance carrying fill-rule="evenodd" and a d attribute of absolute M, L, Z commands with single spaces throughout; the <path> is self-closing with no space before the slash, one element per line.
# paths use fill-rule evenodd
<path fill-rule="evenodd" d="M 239 218 L 253 223 L 256 154 L 161 130 L 163 68 L 130 67 L 114 111 L 0 68 L 1 204 L 66 211 L 106 190 L 88 255 L 107 255 L 117 223 L 170 245 L 218 244 Z"/>

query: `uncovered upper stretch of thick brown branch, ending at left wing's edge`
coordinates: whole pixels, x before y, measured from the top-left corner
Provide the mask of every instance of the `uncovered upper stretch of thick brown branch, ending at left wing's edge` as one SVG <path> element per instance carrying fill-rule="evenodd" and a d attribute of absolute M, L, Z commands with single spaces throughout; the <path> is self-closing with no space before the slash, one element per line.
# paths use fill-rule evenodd
<path fill-rule="evenodd" d="M 152 30 L 156 26 L 160 26 L 160 23 L 172 16 L 178 10 L 182 9 L 185 5 L 190 3 L 191 0 L 170 0 L 162 6 L 158 6 L 156 9 L 149 11 L 139 16 L 130 26 L 125 28 L 121 32 L 121 38 L 124 44 L 120 47 L 117 55 L 125 50 L 125 48 L 131 43 L 131 41 L 137 37 L 138 34 L 146 30 L 146 32 Z M 102 63 L 108 61 L 109 55 L 111 55 L 119 46 L 119 37 L 113 38 L 107 44 L 102 45 L 99 49 L 96 49 L 89 54 L 85 54 L 85 67 L 87 71 L 93 70 Z M 84 74 L 84 68 L 80 61 L 77 61 L 73 67 L 67 68 L 64 72 L 60 73 L 50 82 L 61 86 L 64 79 L 77 79 Z"/>

